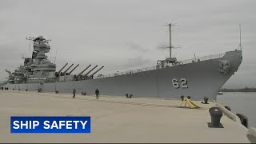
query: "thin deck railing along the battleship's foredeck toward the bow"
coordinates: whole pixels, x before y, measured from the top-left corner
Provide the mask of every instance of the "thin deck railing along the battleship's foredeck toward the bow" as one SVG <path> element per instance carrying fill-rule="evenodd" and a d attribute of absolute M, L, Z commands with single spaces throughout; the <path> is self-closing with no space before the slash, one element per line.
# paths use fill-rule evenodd
<path fill-rule="evenodd" d="M 195 58 L 186 59 L 186 60 L 182 60 L 182 61 L 173 63 L 170 66 L 180 66 L 180 65 L 184 65 L 184 64 L 193 63 L 193 62 L 202 62 L 202 61 L 206 61 L 206 60 L 210 60 L 210 59 L 222 58 L 225 54 L 226 53 L 213 54 L 213 55 L 207 55 L 207 56 L 203 56 L 203 57 L 196 58 L 196 59 Z M 127 71 L 117 72 L 117 73 L 113 73 L 113 74 L 98 75 L 98 76 L 95 76 L 94 79 L 115 77 L 118 75 L 125 75 L 125 74 L 134 74 L 134 73 L 140 73 L 143 71 L 156 70 L 156 69 L 162 69 L 162 68 L 158 68 L 157 66 L 150 66 L 150 67 L 145 67 L 145 68 L 137 69 L 137 70 L 127 70 Z"/>

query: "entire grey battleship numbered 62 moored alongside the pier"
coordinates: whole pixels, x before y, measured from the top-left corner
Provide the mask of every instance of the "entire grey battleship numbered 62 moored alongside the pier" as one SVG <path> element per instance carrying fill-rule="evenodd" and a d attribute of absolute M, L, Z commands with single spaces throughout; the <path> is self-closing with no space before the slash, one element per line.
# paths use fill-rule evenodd
<path fill-rule="evenodd" d="M 50 52 L 50 41 L 42 36 L 26 38 L 33 42 L 31 58 L 24 58 L 24 64 L 9 74 L 2 85 L 8 90 L 35 90 L 38 92 L 94 94 L 98 88 L 102 95 L 148 98 L 181 98 L 190 96 L 194 100 L 207 97 L 216 100 L 218 91 L 238 70 L 242 63 L 241 31 L 240 44 L 237 49 L 222 54 L 208 55 L 178 61 L 172 57 L 174 46 L 171 41 L 166 48 L 170 57 L 157 60 L 155 66 L 137 70 L 128 70 L 114 74 L 98 74 L 104 66 L 88 65 L 78 74 L 72 72 L 79 66 L 74 64 L 62 66 L 56 70 L 56 64 L 50 62 L 46 53 Z M 74 66 L 70 70 L 70 68 Z M 69 71 L 70 70 L 70 71 Z M 86 71 L 87 70 L 87 71 Z M 84 74 L 85 73 L 85 74 Z"/>

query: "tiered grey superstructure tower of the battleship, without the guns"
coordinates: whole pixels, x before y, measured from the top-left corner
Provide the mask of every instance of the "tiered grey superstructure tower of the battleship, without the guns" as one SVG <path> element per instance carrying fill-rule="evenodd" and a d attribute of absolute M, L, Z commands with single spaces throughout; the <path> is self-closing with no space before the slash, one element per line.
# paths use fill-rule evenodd
<path fill-rule="evenodd" d="M 8 82 L 12 84 L 41 82 L 56 70 L 56 65 L 50 62 L 46 56 L 46 53 L 50 51 L 50 40 L 46 40 L 42 36 L 26 39 L 34 42 L 34 50 L 31 58 L 23 57 L 23 66 L 19 66 L 14 73 L 6 70 L 10 75 Z"/>

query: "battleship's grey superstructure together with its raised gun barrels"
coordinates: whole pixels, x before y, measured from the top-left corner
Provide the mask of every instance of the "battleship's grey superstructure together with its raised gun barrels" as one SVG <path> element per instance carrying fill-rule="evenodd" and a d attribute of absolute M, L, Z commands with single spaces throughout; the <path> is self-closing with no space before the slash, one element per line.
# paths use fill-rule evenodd
<path fill-rule="evenodd" d="M 58 71 L 56 71 L 56 65 L 47 58 L 46 53 L 50 52 L 49 42 L 51 40 L 46 40 L 42 36 L 37 38 L 26 38 L 29 41 L 33 42 L 33 52 L 31 58 L 25 58 L 23 66 L 19 66 L 18 69 L 14 70 L 13 73 L 10 70 L 6 70 L 9 74 L 8 83 L 11 84 L 22 84 L 22 83 L 47 83 L 47 82 L 66 82 L 66 81 L 78 81 L 82 79 L 92 78 L 99 70 L 102 70 L 104 66 L 96 70 L 93 74 L 90 74 L 97 66 L 94 66 L 93 69 L 85 72 L 91 65 L 87 66 L 86 69 L 82 70 L 79 74 L 71 75 L 71 73 L 79 66 L 75 66 L 72 70 L 70 68 L 74 64 L 70 65 L 66 70 L 65 66 Z M 70 70 L 68 72 L 68 70 Z M 90 75 L 89 75 L 90 74 Z"/>

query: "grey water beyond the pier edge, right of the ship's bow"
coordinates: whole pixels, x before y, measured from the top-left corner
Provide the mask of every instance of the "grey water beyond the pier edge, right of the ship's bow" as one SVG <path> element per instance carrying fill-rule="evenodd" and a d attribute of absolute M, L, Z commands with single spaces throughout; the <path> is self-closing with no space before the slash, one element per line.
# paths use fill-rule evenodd
<path fill-rule="evenodd" d="M 256 92 L 225 92 L 217 96 L 217 102 L 230 106 L 234 114 L 244 114 L 248 128 L 256 128 Z"/>

